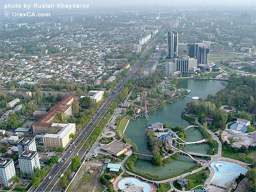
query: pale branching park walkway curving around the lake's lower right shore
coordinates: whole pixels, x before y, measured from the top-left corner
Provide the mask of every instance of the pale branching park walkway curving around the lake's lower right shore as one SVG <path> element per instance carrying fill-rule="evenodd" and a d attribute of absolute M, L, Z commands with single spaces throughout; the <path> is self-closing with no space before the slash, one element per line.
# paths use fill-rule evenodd
<path fill-rule="evenodd" d="M 188 114 L 185 114 L 185 115 L 188 116 L 188 117 L 190 117 Z M 195 118 L 195 117 L 193 117 L 193 118 Z M 198 124 L 198 126 L 200 126 L 200 127 L 202 127 L 202 128 L 204 129 L 204 126 L 198 122 L 198 117 L 195 118 L 195 121 L 196 121 L 196 123 Z M 196 127 L 198 127 L 198 126 L 196 126 Z M 210 169 L 210 175 L 209 175 L 209 177 L 207 178 L 207 180 L 205 181 L 205 184 L 206 184 L 205 188 L 207 189 L 209 183 L 211 182 L 212 178 L 214 177 L 214 169 L 210 167 L 210 164 L 211 164 L 212 162 L 215 162 L 215 161 L 227 161 L 227 162 L 231 162 L 231 163 L 235 163 L 235 164 L 238 164 L 238 165 L 240 165 L 240 166 L 243 166 L 243 167 L 246 168 L 246 169 L 250 169 L 250 167 L 248 167 L 248 165 L 249 165 L 248 163 L 244 163 L 244 162 L 241 162 L 241 161 L 235 160 L 235 159 L 230 159 L 230 158 L 222 157 L 222 156 L 221 156 L 221 155 L 222 155 L 222 143 L 221 143 L 221 141 L 220 141 L 219 138 L 218 138 L 214 133 L 212 133 L 210 130 L 206 129 L 206 131 L 212 136 L 212 139 L 213 139 L 213 140 L 216 140 L 216 141 L 218 142 L 218 153 L 217 153 L 216 155 L 210 155 L 211 160 L 208 161 L 208 163 L 207 163 L 205 166 L 203 166 L 203 167 L 200 167 L 200 168 L 195 169 L 195 170 L 193 170 L 193 171 L 191 171 L 191 172 L 182 174 L 182 175 L 180 175 L 180 176 L 177 176 L 177 177 L 174 177 L 174 178 L 170 178 L 170 179 L 164 179 L 164 180 L 148 179 L 148 178 L 145 178 L 145 177 L 143 177 L 143 176 L 140 176 L 140 175 L 138 175 L 138 174 L 136 174 L 136 173 L 133 173 L 133 172 L 131 172 L 130 170 L 127 170 L 127 169 L 125 168 L 124 164 L 125 164 L 126 160 L 127 160 L 130 156 L 127 156 L 127 157 L 122 161 L 121 167 L 122 167 L 122 169 L 124 170 L 125 173 L 130 174 L 130 175 L 133 175 L 133 176 L 135 176 L 135 177 L 138 177 L 138 178 L 140 178 L 140 179 L 142 179 L 142 180 L 145 180 L 145 181 L 147 181 L 147 182 L 152 182 L 152 183 L 167 183 L 167 182 L 168 182 L 168 183 L 170 184 L 170 190 L 168 190 L 168 192 L 173 191 L 173 190 L 178 191 L 178 192 L 193 191 L 193 190 L 179 190 L 179 189 L 175 188 L 173 182 L 174 182 L 175 180 L 181 178 L 181 177 L 186 177 L 186 176 L 188 176 L 188 175 L 195 174 L 195 173 L 199 172 L 200 170 L 205 169 L 205 168 L 208 166 L 209 169 Z M 209 156 L 209 155 L 207 155 L 207 156 Z M 123 173 L 124 173 L 124 172 L 123 172 Z M 123 174 L 123 173 L 122 173 L 122 174 Z M 121 175 L 122 175 L 122 174 L 121 174 Z M 120 175 L 120 176 L 121 176 L 121 175 Z M 117 181 L 117 180 L 116 180 L 116 181 Z"/>

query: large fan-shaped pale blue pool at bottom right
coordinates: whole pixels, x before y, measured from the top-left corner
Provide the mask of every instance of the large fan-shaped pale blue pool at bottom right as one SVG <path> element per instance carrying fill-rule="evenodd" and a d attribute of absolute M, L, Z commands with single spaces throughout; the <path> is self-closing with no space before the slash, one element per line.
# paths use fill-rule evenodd
<path fill-rule="evenodd" d="M 227 182 L 231 183 L 240 173 L 245 174 L 247 172 L 244 167 L 225 161 L 215 161 L 210 166 L 214 169 L 214 177 L 210 183 L 224 188 L 226 188 Z"/>

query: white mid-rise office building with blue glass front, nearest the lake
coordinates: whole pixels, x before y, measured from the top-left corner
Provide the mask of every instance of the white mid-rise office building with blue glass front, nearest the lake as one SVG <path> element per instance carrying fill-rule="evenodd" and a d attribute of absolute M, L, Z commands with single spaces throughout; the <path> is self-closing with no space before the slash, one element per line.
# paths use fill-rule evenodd
<path fill-rule="evenodd" d="M 181 75 L 188 75 L 189 71 L 197 69 L 197 59 L 195 57 L 176 58 L 176 71 L 180 71 Z"/>

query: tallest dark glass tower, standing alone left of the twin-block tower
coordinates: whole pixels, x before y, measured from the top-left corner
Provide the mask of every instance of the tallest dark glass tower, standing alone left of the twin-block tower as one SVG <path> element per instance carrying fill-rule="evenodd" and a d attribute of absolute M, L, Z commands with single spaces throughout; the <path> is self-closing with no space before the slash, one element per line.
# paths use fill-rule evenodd
<path fill-rule="evenodd" d="M 178 57 L 178 33 L 176 31 L 168 32 L 168 55 L 167 58 Z"/>

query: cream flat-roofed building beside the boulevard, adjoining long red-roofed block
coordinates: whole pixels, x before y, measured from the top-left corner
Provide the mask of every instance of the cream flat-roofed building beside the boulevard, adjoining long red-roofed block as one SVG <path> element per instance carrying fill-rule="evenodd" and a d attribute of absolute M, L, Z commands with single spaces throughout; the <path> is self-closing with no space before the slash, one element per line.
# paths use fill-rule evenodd
<path fill-rule="evenodd" d="M 60 131 L 57 134 L 46 134 L 42 137 L 45 147 L 63 147 L 65 148 L 71 141 L 70 134 L 76 133 L 75 123 L 53 123 L 52 126 L 61 126 Z"/>

